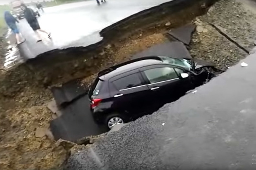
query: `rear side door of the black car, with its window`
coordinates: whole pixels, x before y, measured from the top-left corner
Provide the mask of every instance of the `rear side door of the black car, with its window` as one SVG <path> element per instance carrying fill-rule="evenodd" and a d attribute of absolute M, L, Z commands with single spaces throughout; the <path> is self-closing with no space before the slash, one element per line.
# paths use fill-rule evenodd
<path fill-rule="evenodd" d="M 146 106 L 150 89 L 139 70 L 111 78 L 109 85 L 113 100 L 112 109 L 131 118 L 137 118 L 147 113 Z"/>

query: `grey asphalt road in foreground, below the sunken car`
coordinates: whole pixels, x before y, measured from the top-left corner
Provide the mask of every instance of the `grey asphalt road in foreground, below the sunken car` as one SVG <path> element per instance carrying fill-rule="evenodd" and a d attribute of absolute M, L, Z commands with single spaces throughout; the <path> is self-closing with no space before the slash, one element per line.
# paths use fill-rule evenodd
<path fill-rule="evenodd" d="M 255 58 L 78 150 L 66 170 L 255 170 Z"/>

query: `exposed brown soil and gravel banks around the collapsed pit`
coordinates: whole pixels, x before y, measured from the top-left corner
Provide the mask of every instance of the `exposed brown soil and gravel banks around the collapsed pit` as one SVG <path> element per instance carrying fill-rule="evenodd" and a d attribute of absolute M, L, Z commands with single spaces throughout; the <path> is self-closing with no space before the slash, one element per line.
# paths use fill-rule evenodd
<path fill-rule="evenodd" d="M 225 5 L 222 6 L 222 3 Z M 236 16 L 234 7 L 238 10 L 240 17 L 234 17 Z M 35 134 L 37 128 L 49 128 L 52 118 L 52 113 L 46 109 L 47 102 L 53 98 L 49 87 L 81 77 L 84 77 L 82 83 L 88 85 L 99 70 L 120 63 L 132 54 L 154 44 L 167 41 L 165 33 L 170 28 L 176 28 L 188 22 L 195 23 L 197 28 L 189 47 L 192 57 L 210 60 L 222 70 L 226 70 L 227 67 L 247 56 L 243 50 L 226 39 L 210 24 L 216 24 L 214 21 L 223 19 L 224 15 L 232 18 L 230 21 L 234 20 L 236 24 L 227 28 L 225 25 L 221 27 L 230 30 L 227 31 L 228 35 L 231 37 L 235 35 L 240 40 L 240 34 L 243 37 L 251 36 L 251 32 L 241 28 L 254 29 L 241 21 L 247 18 L 249 23 L 249 20 L 255 19 L 249 11 L 245 12 L 234 0 L 217 2 L 208 15 L 198 18 L 194 18 L 197 15 L 194 11 L 194 8 L 187 9 L 181 12 L 183 15 L 177 13 L 159 20 L 154 25 L 136 29 L 137 31 L 132 34 L 108 41 L 97 51 L 56 54 L 76 56 L 72 60 L 65 60 L 62 63 L 49 61 L 43 65 L 26 63 L 17 65 L 11 70 L 0 70 L 0 169 L 60 167 L 66 160 L 68 151 L 63 146 L 55 144 L 49 131 L 45 131 L 43 137 L 35 136 L 38 136 Z M 170 26 L 165 26 L 167 22 L 171 23 Z M 216 25 L 220 26 L 220 24 L 221 22 Z M 236 32 L 241 33 L 238 35 Z M 234 36 L 232 38 L 235 39 Z M 239 43 L 246 48 L 252 48 L 250 45 L 252 40 L 241 38 L 240 41 Z"/>

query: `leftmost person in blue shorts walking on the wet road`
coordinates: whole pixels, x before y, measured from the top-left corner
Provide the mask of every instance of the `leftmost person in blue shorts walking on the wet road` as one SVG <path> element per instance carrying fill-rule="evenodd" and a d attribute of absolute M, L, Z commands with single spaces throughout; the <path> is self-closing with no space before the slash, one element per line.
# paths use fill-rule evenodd
<path fill-rule="evenodd" d="M 22 34 L 20 33 L 16 25 L 16 22 L 19 22 L 19 21 L 15 17 L 13 17 L 13 15 L 11 15 L 9 11 L 4 12 L 4 20 L 6 24 L 9 26 L 9 28 L 11 28 L 11 31 L 13 31 L 13 33 L 15 34 L 17 44 L 19 45 L 23 43 L 26 39 L 23 38 Z M 24 40 L 22 41 L 22 39 Z"/>

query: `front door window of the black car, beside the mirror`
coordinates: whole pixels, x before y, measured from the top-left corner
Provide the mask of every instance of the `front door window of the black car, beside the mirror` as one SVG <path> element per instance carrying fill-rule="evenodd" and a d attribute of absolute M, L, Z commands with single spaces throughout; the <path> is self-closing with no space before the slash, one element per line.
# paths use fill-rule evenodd
<path fill-rule="evenodd" d="M 150 83 L 158 83 L 161 81 L 168 81 L 174 78 L 178 78 L 178 75 L 174 69 L 169 67 L 152 68 L 145 70 L 144 73 L 146 74 Z"/>

